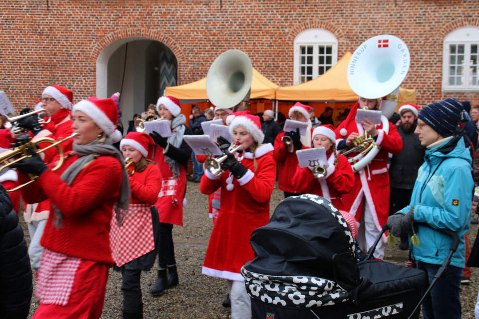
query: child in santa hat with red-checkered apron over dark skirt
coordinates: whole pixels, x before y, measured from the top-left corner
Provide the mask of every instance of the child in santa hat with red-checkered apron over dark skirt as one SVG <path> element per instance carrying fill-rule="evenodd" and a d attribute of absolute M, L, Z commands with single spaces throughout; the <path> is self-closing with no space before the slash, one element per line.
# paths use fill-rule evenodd
<path fill-rule="evenodd" d="M 128 215 L 122 227 L 118 227 L 115 215 L 110 222 L 114 269 L 123 277 L 123 318 L 143 318 L 141 271 L 149 271 L 156 258 L 155 239 L 159 236 L 160 221 L 156 208 L 154 212 L 150 208 L 155 207 L 158 198 L 161 173 L 156 163 L 147 160 L 154 146 L 148 134 L 137 132 L 128 133 L 120 142 L 125 162 L 134 162 L 128 168 L 131 190 Z"/>

